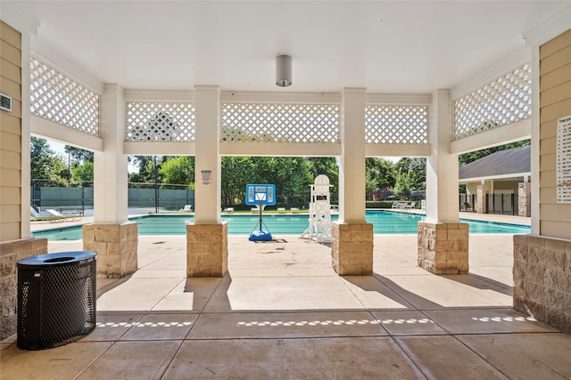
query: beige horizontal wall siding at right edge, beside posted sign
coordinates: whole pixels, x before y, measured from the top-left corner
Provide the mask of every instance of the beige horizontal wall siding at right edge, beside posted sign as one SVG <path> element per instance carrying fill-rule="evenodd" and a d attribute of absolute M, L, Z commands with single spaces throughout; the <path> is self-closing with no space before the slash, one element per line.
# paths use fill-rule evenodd
<path fill-rule="evenodd" d="M 571 115 L 571 29 L 540 47 L 540 234 L 571 239 L 571 205 L 556 202 L 557 120 Z"/>

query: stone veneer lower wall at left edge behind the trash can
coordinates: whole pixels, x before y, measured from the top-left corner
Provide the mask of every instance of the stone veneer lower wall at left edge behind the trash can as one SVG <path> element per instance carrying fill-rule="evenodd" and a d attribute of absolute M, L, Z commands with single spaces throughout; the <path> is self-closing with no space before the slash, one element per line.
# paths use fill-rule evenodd
<path fill-rule="evenodd" d="M 47 254 L 47 239 L 19 239 L 0 243 L 0 340 L 16 334 L 18 324 L 19 260 Z"/>

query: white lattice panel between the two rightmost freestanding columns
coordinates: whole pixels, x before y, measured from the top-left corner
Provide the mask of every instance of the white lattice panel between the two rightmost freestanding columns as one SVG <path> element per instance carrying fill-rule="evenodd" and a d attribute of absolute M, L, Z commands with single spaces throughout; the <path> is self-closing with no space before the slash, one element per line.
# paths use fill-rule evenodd
<path fill-rule="evenodd" d="M 369 105 L 365 108 L 365 141 L 368 144 L 426 144 L 426 106 Z"/>

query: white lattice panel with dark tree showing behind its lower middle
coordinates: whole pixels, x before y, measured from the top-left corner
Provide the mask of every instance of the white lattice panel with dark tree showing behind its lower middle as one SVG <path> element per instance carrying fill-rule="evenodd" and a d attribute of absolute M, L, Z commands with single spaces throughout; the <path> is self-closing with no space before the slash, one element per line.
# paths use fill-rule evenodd
<path fill-rule="evenodd" d="M 194 103 L 127 103 L 127 141 L 194 141 L 195 132 Z"/>

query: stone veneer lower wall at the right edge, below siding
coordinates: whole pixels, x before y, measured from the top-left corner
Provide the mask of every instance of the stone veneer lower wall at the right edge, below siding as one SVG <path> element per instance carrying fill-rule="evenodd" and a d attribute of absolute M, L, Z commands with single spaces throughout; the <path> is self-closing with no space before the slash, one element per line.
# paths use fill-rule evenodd
<path fill-rule="evenodd" d="M 514 235 L 514 309 L 571 334 L 571 240 Z"/>

